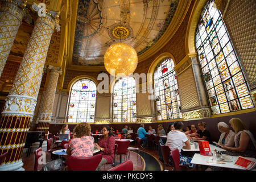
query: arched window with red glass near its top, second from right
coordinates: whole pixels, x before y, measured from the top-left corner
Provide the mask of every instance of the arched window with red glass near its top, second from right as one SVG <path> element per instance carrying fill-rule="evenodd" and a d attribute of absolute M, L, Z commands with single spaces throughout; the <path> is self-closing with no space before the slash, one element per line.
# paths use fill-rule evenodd
<path fill-rule="evenodd" d="M 158 120 L 182 118 L 174 61 L 163 60 L 154 72 L 156 115 Z"/>

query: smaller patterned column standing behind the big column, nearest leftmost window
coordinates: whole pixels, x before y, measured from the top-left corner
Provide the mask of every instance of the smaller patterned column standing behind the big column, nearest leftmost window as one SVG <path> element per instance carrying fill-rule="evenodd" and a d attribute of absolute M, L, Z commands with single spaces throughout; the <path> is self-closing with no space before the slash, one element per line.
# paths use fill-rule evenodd
<path fill-rule="evenodd" d="M 42 101 L 42 110 L 38 115 L 38 131 L 46 131 L 46 134 L 49 130 L 49 124 L 52 118 L 52 109 L 54 104 L 55 92 L 57 87 L 58 78 L 60 75 L 60 68 L 50 67 L 49 79 L 46 86 L 46 92 Z M 44 137 L 44 140 L 47 139 L 47 135 Z"/>

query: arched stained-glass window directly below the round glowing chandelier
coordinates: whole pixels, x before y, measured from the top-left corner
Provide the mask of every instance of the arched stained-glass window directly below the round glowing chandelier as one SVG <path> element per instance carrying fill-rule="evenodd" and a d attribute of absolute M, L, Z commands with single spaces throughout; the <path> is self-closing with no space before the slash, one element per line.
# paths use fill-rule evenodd
<path fill-rule="evenodd" d="M 133 77 L 120 78 L 114 85 L 113 122 L 136 122 L 136 88 Z"/>

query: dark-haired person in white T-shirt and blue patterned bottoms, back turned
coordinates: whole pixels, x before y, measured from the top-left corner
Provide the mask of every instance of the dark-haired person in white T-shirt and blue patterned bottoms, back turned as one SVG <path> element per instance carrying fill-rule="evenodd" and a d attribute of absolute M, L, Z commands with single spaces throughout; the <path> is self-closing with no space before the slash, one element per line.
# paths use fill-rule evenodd
<path fill-rule="evenodd" d="M 182 148 L 190 149 L 190 143 L 187 136 L 183 133 L 183 122 L 176 121 L 174 123 L 175 130 L 171 130 L 167 135 L 166 146 L 169 146 L 171 150 L 177 148 L 181 152 Z M 185 144 L 185 145 L 184 145 Z M 172 158 L 170 155 L 172 162 Z M 190 168 L 195 167 L 195 164 L 191 164 L 192 158 L 180 154 L 180 166 L 187 165 Z"/>

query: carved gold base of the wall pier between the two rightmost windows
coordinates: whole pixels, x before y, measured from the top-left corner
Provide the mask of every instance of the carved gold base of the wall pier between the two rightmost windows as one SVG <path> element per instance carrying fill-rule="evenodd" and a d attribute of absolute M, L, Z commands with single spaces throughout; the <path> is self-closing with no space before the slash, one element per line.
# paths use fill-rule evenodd
<path fill-rule="evenodd" d="M 182 113 L 184 120 L 210 118 L 210 115 L 211 113 L 209 108 L 197 109 Z"/>

